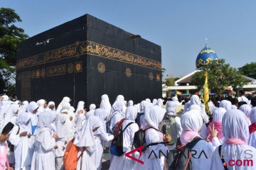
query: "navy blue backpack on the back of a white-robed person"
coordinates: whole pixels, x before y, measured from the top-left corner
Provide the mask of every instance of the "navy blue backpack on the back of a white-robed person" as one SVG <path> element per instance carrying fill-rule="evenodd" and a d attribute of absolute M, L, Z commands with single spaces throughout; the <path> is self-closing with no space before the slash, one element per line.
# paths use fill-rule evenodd
<path fill-rule="evenodd" d="M 133 122 L 128 123 L 128 125 L 124 128 L 124 130 L 126 130 L 126 128 L 131 125 Z M 122 154 L 124 154 L 123 151 L 123 132 L 124 130 L 122 130 L 122 127 L 120 128 L 119 134 L 114 137 L 114 140 L 112 140 L 112 144 L 110 145 L 110 154 L 113 154 L 117 157 L 122 156 Z"/>

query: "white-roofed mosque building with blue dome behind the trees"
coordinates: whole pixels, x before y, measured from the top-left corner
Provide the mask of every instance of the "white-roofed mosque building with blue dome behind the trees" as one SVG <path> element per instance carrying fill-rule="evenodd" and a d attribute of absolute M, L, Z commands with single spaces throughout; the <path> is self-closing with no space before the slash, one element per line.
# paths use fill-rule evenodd
<path fill-rule="evenodd" d="M 191 85 L 193 74 L 200 72 L 202 67 L 205 67 L 208 63 L 210 63 L 210 61 L 213 60 L 218 60 L 218 56 L 206 42 L 206 47 L 203 47 L 203 49 L 199 52 L 198 57 L 196 57 L 196 70 L 175 81 L 174 86 L 166 86 L 166 84 L 162 84 L 162 96 L 169 97 L 171 94 L 176 95 L 178 94 L 177 91 L 181 92 L 183 96 L 190 96 L 195 94 L 198 89 L 196 86 Z M 256 79 L 245 77 L 245 81 L 247 84 L 242 87 L 245 91 L 256 90 Z M 229 87 L 228 89 L 232 90 L 232 87 Z"/>

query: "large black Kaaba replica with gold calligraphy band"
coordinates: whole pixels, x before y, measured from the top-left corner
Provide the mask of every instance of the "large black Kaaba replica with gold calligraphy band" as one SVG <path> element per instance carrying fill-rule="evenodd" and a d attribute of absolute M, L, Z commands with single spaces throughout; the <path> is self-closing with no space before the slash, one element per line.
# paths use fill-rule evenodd
<path fill-rule="evenodd" d="M 18 45 L 16 96 L 99 104 L 161 97 L 161 47 L 86 14 Z"/>

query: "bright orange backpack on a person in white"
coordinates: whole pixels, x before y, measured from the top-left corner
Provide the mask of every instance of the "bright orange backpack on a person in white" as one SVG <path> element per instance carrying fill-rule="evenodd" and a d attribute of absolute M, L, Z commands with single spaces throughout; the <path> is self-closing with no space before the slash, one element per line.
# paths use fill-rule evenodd
<path fill-rule="evenodd" d="M 65 169 L 75 170 L 77 169 L 78 160 L 82 157 L 83 152 L 86 147 L 82 147 L 81 154 L 78 157 L 79 147 L 74 145 L 75 137 L 70 140 L 68 147 L 65 149 L 65 154 L 63 156 L 63 165 Z"/>

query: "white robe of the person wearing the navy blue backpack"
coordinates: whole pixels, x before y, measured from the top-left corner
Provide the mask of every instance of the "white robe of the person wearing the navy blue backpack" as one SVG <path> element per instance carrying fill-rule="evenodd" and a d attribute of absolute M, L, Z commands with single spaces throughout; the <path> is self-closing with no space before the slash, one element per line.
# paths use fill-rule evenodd
<path fill-rule="evenodd" d="M 124 123 L 122 123 L 122 130 L 130 123 L 130 120 L 124 120 Z M 139 126 L 136 123 L 132 123 L 127 127 L 126 130 L 123 132 L 123 145 L 126 147 L 123 147 L 124 154 L 122 156 L 117 157 L 114 156 L 112 159 L 112 162 L 110 164 L 110 170 L 119 169 L 119 170 L 126 170 L 126 169 L 133 169 L 134 161 L 128 157 L 125 157 L 125 154 L 127 152 L 130 152 L 132 147 L 132 142 L 134 139 L 134 133 L 139 130 Z"/>

